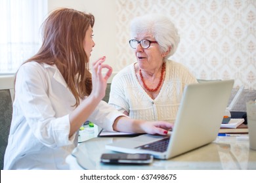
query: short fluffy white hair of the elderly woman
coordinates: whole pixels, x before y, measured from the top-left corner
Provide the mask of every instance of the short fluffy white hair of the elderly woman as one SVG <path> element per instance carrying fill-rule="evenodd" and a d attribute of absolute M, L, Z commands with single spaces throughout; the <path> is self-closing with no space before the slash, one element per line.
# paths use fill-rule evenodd
<path fill-rule="evenodd" d="M 179 33 L 173 22 L 161 14 L 146 14 L 134 18 L 131 22 L 131 37 L 134 38 L 141 33 L 151 34 L 158 41 L 162 52 L 167 52 L 171 47 L 165 59 L 175 53 L 180 42 Z"/>

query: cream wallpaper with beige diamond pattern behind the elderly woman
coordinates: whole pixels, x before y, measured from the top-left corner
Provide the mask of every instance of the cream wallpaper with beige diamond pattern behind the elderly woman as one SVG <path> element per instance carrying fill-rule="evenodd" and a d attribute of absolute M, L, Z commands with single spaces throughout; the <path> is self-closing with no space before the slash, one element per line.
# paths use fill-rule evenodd
<path fill-rule="evenodd" d="M 200 79 L 234 79 L 235 88 L 256 90 L 255 0 L 116 0 L 117 71 L 133 63 L 131 19 L 162 13 L 179 30 L 181 42 L 170 59 Z"/>

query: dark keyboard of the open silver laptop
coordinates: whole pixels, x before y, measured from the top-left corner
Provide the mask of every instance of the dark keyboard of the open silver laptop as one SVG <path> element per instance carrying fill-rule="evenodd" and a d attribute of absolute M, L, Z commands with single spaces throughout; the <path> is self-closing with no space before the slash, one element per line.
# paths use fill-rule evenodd
<path fill-rule="evenodd" d="M 144 150 L 152 150 L 156 152 L 165 152 L 167 150 L 170 138 L 161 139 L 160 141 L 144 144 L 137 148 Z"/>

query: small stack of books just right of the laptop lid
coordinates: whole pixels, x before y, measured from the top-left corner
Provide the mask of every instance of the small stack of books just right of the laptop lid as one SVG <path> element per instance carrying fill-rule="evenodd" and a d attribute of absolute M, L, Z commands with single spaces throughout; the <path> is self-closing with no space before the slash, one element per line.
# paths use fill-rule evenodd
<path fill-rule="evenodd" d="M 244 118 L 231 118 L 228 124 L 221 124 L 219 133 L 248 133 L 248 127 L 244 124 Z"/>

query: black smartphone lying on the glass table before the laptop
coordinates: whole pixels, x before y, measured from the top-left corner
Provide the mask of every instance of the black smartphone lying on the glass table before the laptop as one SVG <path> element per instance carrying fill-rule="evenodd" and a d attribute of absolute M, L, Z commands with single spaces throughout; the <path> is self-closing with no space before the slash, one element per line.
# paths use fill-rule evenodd
<path fill-rule="evenodd" d="M 150 154 L 102 154 L 100 161 L 102 163 L 131 163 L 131 164 L 149 164 L 153 162 L 153 156 Z"/>

